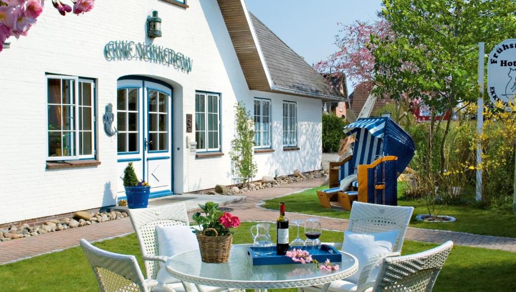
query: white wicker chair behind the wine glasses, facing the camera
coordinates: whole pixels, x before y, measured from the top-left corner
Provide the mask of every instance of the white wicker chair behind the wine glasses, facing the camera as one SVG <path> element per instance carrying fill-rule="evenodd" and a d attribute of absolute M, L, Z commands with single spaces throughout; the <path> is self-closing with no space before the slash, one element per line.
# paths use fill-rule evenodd
<path fill-rule="evenodd" d="M 407 233 L 410 218 L 413 207 L 402 207 L 402 206 L 387 206 L 387 205 L 376 205 L 362 202 L 353 202 L 351 207 L 351 214 L 349 215 L 349 226 L 348 231 L 356 233 L 379 233 L 391 230 L 398 231 L 398 237 L 393 247 L 393 252 L 390 254 L 384 254 L 382 256 L 374 256 L 365 263 L 358 283 L 367 282 L 369 274 L 375 269 L 375 267 L 382 261 L 383 258 L 389 256 L 398 256 L 401 253 L 401 247 Z M 334 244 L 338 249 L 341 248 L 340 244 Z M 364 278 L 365 277 L 365 278 Z M 338 282 L 338 281 L 337 281 Z M 347 282 L 347 281 L 346 281 Z M 336 285 L 330 285 L 329 289 L 334 291 L 346 291 L 354 289 L 357 283 L 347 282 L 350 285 L 341 286 L 342 289 L 335 289 Z M 321 291 L 322 286 L 310 286 L 303 287 L 300 290 L 303 291 Z"/>

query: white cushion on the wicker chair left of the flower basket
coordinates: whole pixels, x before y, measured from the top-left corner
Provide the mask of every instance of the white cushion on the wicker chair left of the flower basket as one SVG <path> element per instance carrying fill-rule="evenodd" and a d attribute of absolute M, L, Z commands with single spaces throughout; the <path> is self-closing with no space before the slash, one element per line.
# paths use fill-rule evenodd
<path fill-rule="evenodd" d="M 198 250 L 197 236 L 193 234 L 189 226 L 156 226 L 159 255 L 174 256 L 187 251 Z M 160 269 L 156 280 L 162 283 L 177 283 L 179 279 L 172 277 L 165 266 L 168 264 L 159 262 Z"/>

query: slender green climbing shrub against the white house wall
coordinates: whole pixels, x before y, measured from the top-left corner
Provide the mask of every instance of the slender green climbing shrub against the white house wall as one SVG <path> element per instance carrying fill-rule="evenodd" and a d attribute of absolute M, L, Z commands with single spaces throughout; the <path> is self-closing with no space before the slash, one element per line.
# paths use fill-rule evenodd
<path fill-rule="evenodd" d="M 254 122 L 251 113 L 246 111 L 243 102 L 235 105 L 235 138 L 231 141 L 231 161 L 233 175 L 247 183 L 256 174 L 257 167 L 253 161 Z"/>

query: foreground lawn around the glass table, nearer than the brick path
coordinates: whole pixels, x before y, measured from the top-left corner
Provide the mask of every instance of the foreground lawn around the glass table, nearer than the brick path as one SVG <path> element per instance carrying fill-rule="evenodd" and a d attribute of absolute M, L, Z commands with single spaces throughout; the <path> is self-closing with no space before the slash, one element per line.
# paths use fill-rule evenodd
<path fill-rule="evenodd" d="M 243 222 L 236 229 L 234 244 L 251 242 L 249 229 L 253 224 L 255 223 Z M 272 237 L 274 233 L 271 226 Z M 291 234 L 294 234 L 294 228 L 291 228 Z M 342 233 L 324 231 L 321 240 L 340 242 Z M 140 267 L 143 268 L 134 234 L 98 242 L 95 246 L 116 253 L 136 255 Z M 437 245 L 406 240 L 403 253 L 411 254 L 435 246 Z M 516 253 L 454 247 L 439 274 L 434 291 L 509 291 L 516 287 L 515 270 Z M 98 287 L 82 250 L 74 247 L 0 266 L 0 290 L 98 291 Z"/>

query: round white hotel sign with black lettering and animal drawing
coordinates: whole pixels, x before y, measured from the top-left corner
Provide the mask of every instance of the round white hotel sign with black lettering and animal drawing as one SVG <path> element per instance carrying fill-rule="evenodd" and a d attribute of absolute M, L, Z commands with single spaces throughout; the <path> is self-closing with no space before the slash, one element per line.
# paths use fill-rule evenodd
<path fill-rule="evenodd" d="M 497 44 L 489 54 L 487 86 L 491 101 L 502 102 L 502 108 L 511 111 L 509 104 L 516 96 L 516 39 Z"/>

